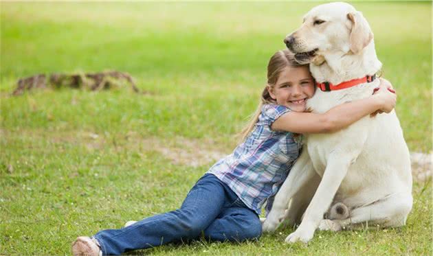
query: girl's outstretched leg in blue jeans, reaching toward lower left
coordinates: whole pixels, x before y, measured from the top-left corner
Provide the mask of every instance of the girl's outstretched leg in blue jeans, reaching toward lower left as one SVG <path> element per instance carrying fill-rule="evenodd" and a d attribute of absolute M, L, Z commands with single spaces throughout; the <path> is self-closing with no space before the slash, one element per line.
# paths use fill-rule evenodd
<path fill-rule="evenodd" d="M 123 229 L 107 229 L 93 237 L 103 255 L 160 246 L 199 237 L 221 213 L 225 190 L 215 176 L 206 174 L 192 187 L 180 209 L 146 218 Z"/>

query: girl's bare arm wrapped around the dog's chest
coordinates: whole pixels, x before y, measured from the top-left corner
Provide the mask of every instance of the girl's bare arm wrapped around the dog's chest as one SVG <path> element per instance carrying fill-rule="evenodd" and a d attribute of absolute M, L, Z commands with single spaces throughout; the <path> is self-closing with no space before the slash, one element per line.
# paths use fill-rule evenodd
<path fill-rule="evenodd" d="M 272 130 L 296 133 L 327 133 L 341 130 L 362 117 L 381 110 L 390 113 L 395 107 L 397 95 L 381 86 L 374 95 L 335 106 L 326 113 L 285 113 L 271 125 Z"/>

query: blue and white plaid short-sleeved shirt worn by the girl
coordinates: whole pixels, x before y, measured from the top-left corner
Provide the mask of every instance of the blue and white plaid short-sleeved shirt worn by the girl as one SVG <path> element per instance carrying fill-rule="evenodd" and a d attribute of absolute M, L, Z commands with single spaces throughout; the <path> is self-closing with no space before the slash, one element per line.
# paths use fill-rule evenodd
<path fill-rule="evenodd" d="M 276 192 L 302 148 L 293 133 L 271 130 L 271 124 L 289 111 L 285 106 L 265 104 L 247 139 L 208 171 L 227 184 L 258 215 L 266 200 L 267 211 L 271 209 Z"/>

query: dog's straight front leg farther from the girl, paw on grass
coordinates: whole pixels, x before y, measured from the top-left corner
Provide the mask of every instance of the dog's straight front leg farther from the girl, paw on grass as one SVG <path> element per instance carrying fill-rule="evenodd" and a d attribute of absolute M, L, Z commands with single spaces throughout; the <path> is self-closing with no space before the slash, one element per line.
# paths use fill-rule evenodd
<path fill-rule="evenodd" d="M 353 154 L 349 156 L 334 152 L 329 156 L 322 181 L 305 211 L 304 218 L 298 229 L 286 238 L 286 242 L 307 243 L 313 238 L 315 229 L 318 228 L 324 213 L 329 209 L 353 159 L 355 159 Z"/>

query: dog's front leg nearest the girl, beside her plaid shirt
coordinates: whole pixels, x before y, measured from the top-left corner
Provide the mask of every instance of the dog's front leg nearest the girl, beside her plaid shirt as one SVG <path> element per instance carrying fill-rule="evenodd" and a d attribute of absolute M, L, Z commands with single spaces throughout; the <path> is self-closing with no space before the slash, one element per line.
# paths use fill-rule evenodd
<path fill-rule="evenodd" d="M 274 205 L 262 224 L 263 232 L 272 232 L 278 228 L 285 218 L 289 200 L 315 175 L 307 147 L 304 146 L 301 155 L 291 168 L 289 176 L 282 183 L 275 196 Z"/>

